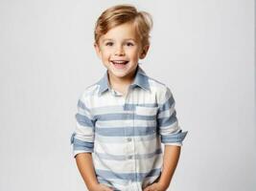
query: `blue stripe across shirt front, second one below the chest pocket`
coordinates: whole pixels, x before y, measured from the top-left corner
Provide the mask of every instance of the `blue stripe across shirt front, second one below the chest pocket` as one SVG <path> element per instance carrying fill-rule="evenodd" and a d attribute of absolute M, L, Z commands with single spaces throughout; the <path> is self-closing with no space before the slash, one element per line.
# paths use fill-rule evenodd
<path fill-rule="evenodd" d="M 106 137 L 149 136 L 156 133 L 156 127 L 95 128 L 95 133 Z"/>

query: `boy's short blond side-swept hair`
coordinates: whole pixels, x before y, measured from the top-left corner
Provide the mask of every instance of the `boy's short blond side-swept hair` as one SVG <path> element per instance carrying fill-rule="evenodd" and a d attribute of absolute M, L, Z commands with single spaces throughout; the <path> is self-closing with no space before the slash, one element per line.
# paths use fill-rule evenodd
<path fill-rule="evenodd" d="M 117 5 L 108 8 L 101 14 L 94 30 L 95 43 L 98 44 L 100 37 L 106 32 L 125 23 L 134 25 L 142 46 L 150 45 L 151 14 L 146 11 L 137 11 L 131 5 Z"/>

